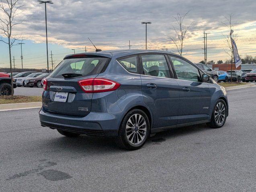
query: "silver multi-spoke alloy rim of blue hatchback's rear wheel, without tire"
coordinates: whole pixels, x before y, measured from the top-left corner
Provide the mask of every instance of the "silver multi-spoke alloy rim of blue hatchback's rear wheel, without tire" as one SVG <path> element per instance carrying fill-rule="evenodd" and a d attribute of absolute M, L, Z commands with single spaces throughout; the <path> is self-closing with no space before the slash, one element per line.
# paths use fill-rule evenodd
<path fill-rule="evenodd" d="M 141 114 L 132 115 L 126 124 L 127 140 L 133 144 L 140 144 L 146 136 L 147 124 Z"/>

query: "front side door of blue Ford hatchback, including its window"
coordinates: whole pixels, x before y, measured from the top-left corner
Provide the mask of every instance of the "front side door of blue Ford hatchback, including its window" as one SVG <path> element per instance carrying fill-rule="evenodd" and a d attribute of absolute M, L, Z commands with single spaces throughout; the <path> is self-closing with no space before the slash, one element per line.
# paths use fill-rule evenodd
<path fill-rule="evenodd" d="M 201 82 L 199 69 L 192 63 L 170 56 L 179 85 L 178 124 L 209 119 L 211 94 L 207 83 Z"/>

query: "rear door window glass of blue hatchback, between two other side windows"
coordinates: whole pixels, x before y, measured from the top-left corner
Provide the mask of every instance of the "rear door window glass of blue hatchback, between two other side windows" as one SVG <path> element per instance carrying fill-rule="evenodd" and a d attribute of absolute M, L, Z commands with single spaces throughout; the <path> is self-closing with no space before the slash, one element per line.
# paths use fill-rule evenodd
<path fill-rule="evenodd" d="M 164 55 L 141 55 L 143 74 L 170 78 L 170 71 Z"/>

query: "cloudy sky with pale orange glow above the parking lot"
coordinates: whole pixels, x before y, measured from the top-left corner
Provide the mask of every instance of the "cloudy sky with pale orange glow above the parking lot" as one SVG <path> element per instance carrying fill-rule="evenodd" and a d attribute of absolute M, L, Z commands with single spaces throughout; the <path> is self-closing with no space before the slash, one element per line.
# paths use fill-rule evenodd
<path fill-rule="evenodd" d="M 3 0 L 5 1 L 5 0 Z M 25 4 L 24 12 L 16 21 L 25 21 L 15 26 L 14 34 L 22 33 L 27 40 L 23 45 L 24 66 L 27 68 L 45 68 L 45 10 L 36 0 L 20 0 Z M 256 0 L 53 0 L 47 4 L 47 26 L 49 53 L 52 50 L 53 61 L 58 63 L 66 54 L 76 50 L 84 52 L 94 48 L 88 42 L 89 36 L 97 48 L 102 50 L 127 49 L 129 40 L 132 49 L 145 48 L 145 25 L 148 25 L 148 49 L 168 48 L 176 52 L 168 36 L 174 35 L 172 25 L 177 13 L 189 16 L 184 24 L 195 24 L 184 40 L 184 56 L 193 62 L 203 60 L 203 31 L 209 32 L 208 61 L 229 58 L 223 34 L 228 28 L 221 24 L 225 16 L 233 13 L 237 25 L 237 46 L 240 55 L 256 56 Z M 3 14 L 0 14 L 3 18 Z M 16 67 L 21 66 L 20 46 L 13 46 L 12 56 Z M 0 42 L 0 67 L 7 67 L 8 47 Z"/>

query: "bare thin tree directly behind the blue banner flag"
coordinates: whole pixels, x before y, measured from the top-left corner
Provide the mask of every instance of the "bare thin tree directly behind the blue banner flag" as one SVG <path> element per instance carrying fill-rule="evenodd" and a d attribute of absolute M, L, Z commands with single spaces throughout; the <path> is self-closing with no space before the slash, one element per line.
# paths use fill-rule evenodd
<path fill-rule="evenodd" d="M 229 29 L 228 34 L 223 34 L 224 36 L 224 42 L 225 42 L 225 46 L 227 47 L 226 49 L 223 48 L 224 52 L 229 55 L 231 57 L 231 64 L 233 63 L 233 49 L 232 49 L 232 43 L 231 43 L 231 39 L 230 39 L 230 32 L 231 30 L 234 29 L 234 26 L 237 25 L 237 22 L 233 22 L 234 19 L 234 15 L 231 13 L 229 14 L 228 17 L 224 17 L 224 21 L 220 21 L 223 25 L 227 26 L 227 28 Z M 238 34 L 232 34 L 231 35 L 233 40 L 237 40 L 238 39 Z"/>

